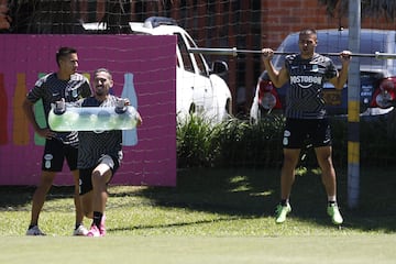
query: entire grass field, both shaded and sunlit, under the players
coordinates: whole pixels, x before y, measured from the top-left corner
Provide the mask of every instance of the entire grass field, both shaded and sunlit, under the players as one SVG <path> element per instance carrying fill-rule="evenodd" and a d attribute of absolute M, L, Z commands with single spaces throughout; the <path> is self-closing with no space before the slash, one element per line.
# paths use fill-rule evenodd
<path fill-rule="evenodd" d="M 333 227 L 317 172 L 298 176 L 293 213 L 275 224 L 277 169 L 184 169 L 170 187 L 111 186 L 106 238 L 73 238 L 70 187 L 54 187 L 41 215 L 48 235 L 24 235 L 33 187 L 0 188 L 0 263 L 395 263 L 394 168 L 362 169 L 361 204 Z M 86 226 L 89 221 L 86 220 Z"/>

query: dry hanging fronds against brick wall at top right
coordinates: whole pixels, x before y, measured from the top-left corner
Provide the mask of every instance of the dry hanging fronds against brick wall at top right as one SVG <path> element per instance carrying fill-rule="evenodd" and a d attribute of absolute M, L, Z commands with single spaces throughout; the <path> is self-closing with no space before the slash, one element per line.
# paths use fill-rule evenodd
<path fill-rule="evenodd" d="M 330 16 L 342 18 L 348 15 L 349 0 L 318 0 L 320 4 L 326 6 Z M 385 16 L 389 21 L 395 20 L 396 1 L 395 0 L 361 0 L 362 15 L 381 18 Z"/>

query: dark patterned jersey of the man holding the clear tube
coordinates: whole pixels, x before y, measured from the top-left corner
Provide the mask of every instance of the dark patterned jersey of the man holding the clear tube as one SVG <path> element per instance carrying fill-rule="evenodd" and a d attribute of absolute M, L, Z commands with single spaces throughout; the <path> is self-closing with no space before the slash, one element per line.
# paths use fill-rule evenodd
<path fill-rule="evenodd" d="M 117 97 L 109 96 L 105 101 L 89 97 L 78 101 L 81 107 L 116 107 Z M 91 168 L 98 165 L 103 155 L 122 160 L 122 131 L 79 131 L 78 168 Z"/>

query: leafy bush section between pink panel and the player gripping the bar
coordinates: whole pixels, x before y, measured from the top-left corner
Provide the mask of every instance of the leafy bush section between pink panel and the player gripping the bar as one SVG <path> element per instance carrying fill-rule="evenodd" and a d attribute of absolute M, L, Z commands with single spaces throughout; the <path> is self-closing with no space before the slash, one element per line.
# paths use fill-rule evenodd
<path fill-rule="evenodd" d="M 274 116 L 267 121 L 251 124 L 231 118 L 210 124 L 191 116 L 177 128 L 178 167 L 279 165 L 283 118 Z"/>

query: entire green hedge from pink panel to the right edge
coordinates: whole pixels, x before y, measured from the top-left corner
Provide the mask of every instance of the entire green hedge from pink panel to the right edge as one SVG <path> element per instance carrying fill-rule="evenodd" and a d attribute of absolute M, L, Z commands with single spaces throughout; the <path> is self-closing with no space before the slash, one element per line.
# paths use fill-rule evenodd
<path fill-rule="evenodd" d="M 396 163 L 395 133 L 389 131 L 395 116 L 366 117 L 360 121 L 360 162 L 364 166 L 388 166 Z M 191 117 L 177 128 L 178 167 L 279 167 L 283 161 L 284 118 L 268 116 L 257 124 L 229 119 L 211 125 Z M 333 162 L 348 166 L 349 123 L 332 118 Z M 316 167 L 311 147 L 301 150 L 299 166 Z"/>

